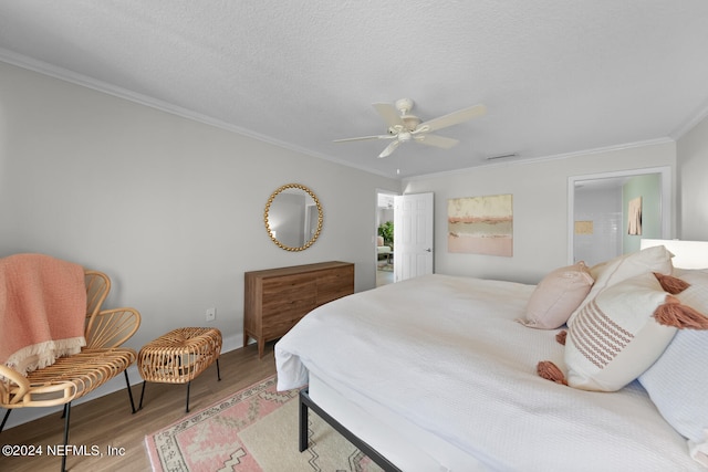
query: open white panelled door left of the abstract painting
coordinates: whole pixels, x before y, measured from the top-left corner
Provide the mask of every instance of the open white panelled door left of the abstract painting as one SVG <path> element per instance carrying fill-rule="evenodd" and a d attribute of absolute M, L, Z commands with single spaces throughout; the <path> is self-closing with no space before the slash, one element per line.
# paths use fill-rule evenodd
<path fill-rule="evenodd" d="M 433 193 L 394 198 L 394 280 L 433 273 Z"/>

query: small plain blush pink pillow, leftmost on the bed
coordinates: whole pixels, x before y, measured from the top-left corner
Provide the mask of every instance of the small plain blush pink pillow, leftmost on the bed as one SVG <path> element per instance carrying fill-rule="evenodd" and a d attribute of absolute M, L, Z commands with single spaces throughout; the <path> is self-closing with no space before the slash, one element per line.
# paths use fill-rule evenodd
<path fill-rule="evenodd" d="M 585 300 L 593 277 L 584 262 L 560 268 L 539 283 L 529 298 L 525 318 L 521 324 L 539 329 L 562 326 Z"/>

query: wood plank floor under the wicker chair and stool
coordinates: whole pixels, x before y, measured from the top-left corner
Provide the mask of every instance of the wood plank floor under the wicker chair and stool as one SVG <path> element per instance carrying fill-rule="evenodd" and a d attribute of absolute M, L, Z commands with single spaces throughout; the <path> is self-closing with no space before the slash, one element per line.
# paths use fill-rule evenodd
<path fill-rule="evenodd" d="M 275 374 L 273 343 L 266 346 L 262 359 L 258 348 L 251 345 L 221 355 L 219 359 L 221 381 L 217 381 L 216 364 L 191 382 L 189 410 L 201 408 Z M 131 378 L 131 381 L 136 379 Z M 140 397 L 142 382 L 133 386 L 135 406 Z M 66 459 L 71 471 L 149 471 L 150 463 L 145 449 L 145 436 L 155 432 L 185 415 L 186 385 L 147 384 L 143 409 L 131 415 L 125 389 L 72 406 L 69 444 L 98 447 L 103 457 L 72 457 Z M 0 410 L 4 415 L 6 410 Z M 1 417 L 0 417 L 1 420 Z M 2 431 L 0 445 L 4 444 L 62 444 L 64 420 L 60 413 Z M 296 438 L 293 438 L 296 441 Z M 125 455 L 107 455 L 107 448 L 124 448 Z M 61 457 L 8 458 L 0 454 L 0 471 L 59 471 Z"/>

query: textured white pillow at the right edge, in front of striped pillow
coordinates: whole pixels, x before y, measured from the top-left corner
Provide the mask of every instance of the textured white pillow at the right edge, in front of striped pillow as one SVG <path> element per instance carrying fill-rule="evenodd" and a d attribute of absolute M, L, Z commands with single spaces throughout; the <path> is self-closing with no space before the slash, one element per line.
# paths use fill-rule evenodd
<path fill-rule="evenodd" d="M 680 279 L 691 286 L 676 297 L 708 313 L 708 273 L 687 271 Z M 639 382 L 666 421 L 689 440 L 694 459 L 702 454 L 708 466 L 708 332 L 679 331 Z"/>

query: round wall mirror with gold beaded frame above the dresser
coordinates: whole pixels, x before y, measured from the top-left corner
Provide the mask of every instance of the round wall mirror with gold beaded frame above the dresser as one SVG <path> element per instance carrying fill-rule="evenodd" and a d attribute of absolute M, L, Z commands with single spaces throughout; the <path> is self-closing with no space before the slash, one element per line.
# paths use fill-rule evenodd
<path fill-rule="evenodd" d="M 303 251 L 320 235 L 322 207 L 308 187 L 288 183 L 268 199 L 263 221 L 275 244 L 285 251 Z"/>

